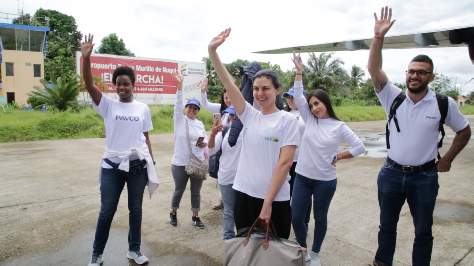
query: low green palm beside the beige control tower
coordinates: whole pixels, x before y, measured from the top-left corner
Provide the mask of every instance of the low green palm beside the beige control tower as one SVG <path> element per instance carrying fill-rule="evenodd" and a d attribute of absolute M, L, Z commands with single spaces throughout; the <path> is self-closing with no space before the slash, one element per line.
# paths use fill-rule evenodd
<path fill-rule="evenodd" d="M 36 91 L 27 93 L 30 96 L 28 100 L 43 103 L 36 106 L 36 108 L 49 105 L 57 108 L 59 111 L 65 111 L 69 107 L 78 110 L 79 102 L 77 101 L 77 96 L 81 91 L 81 84 L 78 78 L 78 75 L 73 75 L 69 79 L 65 75 L 56 78 L 54 74 L 51 74 L 49 81 L 46 79 L 40 80 L 43 86 L 34 86 L 33 88 Z"/>

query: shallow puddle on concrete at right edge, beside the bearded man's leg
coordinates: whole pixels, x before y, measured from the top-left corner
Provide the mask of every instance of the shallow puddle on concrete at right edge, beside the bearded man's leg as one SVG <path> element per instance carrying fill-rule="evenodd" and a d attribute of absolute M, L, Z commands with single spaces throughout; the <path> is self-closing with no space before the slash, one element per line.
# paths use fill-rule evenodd
<path fill-rule="evenodd" d="M 436 202 L 433 218 L 441 221 L 474 222 L 474 207 L 466 203 Z"/>

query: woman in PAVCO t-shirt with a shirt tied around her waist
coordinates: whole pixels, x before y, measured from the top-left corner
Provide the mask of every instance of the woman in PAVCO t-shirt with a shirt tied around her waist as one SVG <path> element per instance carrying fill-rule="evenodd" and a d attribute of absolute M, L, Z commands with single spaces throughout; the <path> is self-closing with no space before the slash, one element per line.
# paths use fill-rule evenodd
<path fill-rule="evenodd" d="M 99 266 L 103 261 L 102 253 L 125 183 L 130 225 L 127 257 L 134 259 L 137 264 L 144 264 L 148 258 L 140 253 L 143 192 L 148 184 L 151 197 L 158 187 L 148 138 L 148 131 L 153 130 L 150 109 L 146 104 L 132 98 L 135 73 L 131 67 L 119 66 L 112 75 L 118 100 L 102 95 L 94 85 L 91 71 L 93 37 L 84 37 L 83 44 L 77 40 L 83 58 L 84 83 L 91 95 L 92 107 L 104 119 L 107 136 L 99 170 L 100 213 L 89 266 Z"/>

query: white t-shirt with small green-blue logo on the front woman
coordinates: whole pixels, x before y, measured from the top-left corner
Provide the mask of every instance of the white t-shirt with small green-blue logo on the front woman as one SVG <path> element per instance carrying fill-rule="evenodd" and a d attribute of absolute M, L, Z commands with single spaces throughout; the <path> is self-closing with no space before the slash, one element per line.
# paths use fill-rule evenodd
<path fill-rule="evenodd" d="M 280 159 L 280 149 L 284 146 L 298 146 L 298 120 L 287 111 L 264 115 L 246 102 L 239 119 L 242 129 L 242 149 L 234 180 L 234 188 L 249 196 L 264 199 L 273 171 Z M 290 174 L 274 201 L 290 200 Z"/>

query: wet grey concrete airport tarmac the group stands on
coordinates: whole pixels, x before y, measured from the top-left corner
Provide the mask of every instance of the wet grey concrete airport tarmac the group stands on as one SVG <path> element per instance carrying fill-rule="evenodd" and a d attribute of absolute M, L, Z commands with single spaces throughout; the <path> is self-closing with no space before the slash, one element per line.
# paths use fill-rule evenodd
<path fill-rule="evenodd" d="M 474 116 L 467 116 L 471 128 Z M 348 123 L 367 147 L 367 154 L 337 164 L 337 191 L 328 214 L 321 248 L 323 266 L 372 265 L 377 249 L 379 206 L 377 174 L 386 156 L 385 121 Z M 445 126 L 446 134 L 454 135 Z M 449 137 L 449 136 L 448 136 Z M 189 186 L 178 210 L 178 227 L 168 224 L 173 134 L 150 135 L 160 187 L 145 190 L 142 252 L 148 265 L 222 265 L 222 210 L 216 180 L 201 189 L 204 229 L 191 224 Z M 0 265 L 86 266 L 90 260 L 100 210 L 97 172 L 105 138 L 0 144 Z M 452 143 L 445 138 L 440 153 Z M 344 148 L 344 145 L 343 147 Z M 456 157 L 451 171 L 439 174 L 434 213 L 433 266 L 474 266 L 474 141 Z M 127 187 L 120 198 L 104 251 L 104 266 L 136 265 L 127 259 Z M 310 222 L 309 247 L 314 221 Z M 393 266 L 411 265 L 414 238 L 408 205 L 401 211 Z M 294 240 L 294 234 L 290 236 Z"/>

